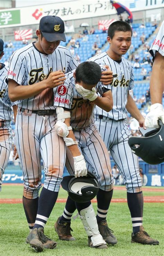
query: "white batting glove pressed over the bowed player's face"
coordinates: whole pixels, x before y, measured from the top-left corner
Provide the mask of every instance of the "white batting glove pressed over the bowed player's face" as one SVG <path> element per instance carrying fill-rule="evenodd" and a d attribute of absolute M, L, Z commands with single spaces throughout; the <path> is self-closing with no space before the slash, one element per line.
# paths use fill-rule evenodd
<path fill-rule="evenodd" d="M 89 101 L 94 101 L 98 97 L 95 87 L 92 87 L 92 90 L 88 90 L 76 83 L 75 89 L 76 91 L 78 91 L 78 93 L 80 93 L 83 98 L 89 99 Z"/>

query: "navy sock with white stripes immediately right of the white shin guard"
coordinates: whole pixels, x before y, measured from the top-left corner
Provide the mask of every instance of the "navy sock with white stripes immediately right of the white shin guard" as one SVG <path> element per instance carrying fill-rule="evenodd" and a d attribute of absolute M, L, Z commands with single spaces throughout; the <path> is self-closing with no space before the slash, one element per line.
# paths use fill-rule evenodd
<path fill-rule="evenodd" d="M 113 189 L 110 191 L 104 191 L 102 189 L 99 189 L 99 192 L 97 194 L 97 223 L 106 220 L 112 195 Z"/>

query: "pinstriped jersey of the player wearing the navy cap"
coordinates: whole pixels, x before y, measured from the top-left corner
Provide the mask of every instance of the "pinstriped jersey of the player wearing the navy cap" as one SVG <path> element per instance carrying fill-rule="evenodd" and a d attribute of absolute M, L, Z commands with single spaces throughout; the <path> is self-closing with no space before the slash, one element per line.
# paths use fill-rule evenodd
<path fill-rule="evenodd" d="M 45 79 L 52 71 L 70 72 L 78 66 L 70 51 L 58 46 L 53 54 L 42 54 L 34 42 L 15 51 L 10 59 L 8 79 L 19 85 L 33 85 Z M 48 88 L 34 97 L 17 102 L 18 107 L 28 110 L 54 109 L 53 89 Z"/>

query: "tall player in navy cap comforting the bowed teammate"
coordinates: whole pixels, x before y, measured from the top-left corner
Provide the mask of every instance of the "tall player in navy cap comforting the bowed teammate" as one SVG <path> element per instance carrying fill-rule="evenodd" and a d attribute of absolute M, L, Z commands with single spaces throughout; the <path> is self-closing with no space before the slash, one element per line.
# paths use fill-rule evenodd
<path fill-rule="evenodd" d="M 66 155 L 64 141 L 54 128 L 53 88 L 63 84 L 64 73 L 76 68 L 78 62 L 69 50 L 58 47 L 61 40 L 66 41 L 60 17 L 41 18 L 36 34 L 37 42 L 13 53 L 8 79 L 10 99 L 18 101 L 16 147 L 24 176 L 23 205 L 32 230 L 26 242 L 42 251 L 56 247 L 56 242 L 44 236 L 44 226 L 57 199 Z M 40 155 L 45 181 L 38 198 Z"/>

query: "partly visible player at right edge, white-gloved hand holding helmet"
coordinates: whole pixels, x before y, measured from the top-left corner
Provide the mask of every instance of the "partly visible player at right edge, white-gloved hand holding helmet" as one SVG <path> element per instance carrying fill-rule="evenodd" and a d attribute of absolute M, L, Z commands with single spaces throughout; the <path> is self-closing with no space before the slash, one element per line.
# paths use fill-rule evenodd
<path fill-rule="evenodd" d="M 146 115 L 145 126 L 148 128 L 158 128 L 158 119 L 161 119 L 164 123 L 164 111 L 162 105 L 162 95 L 164 92 L 164 21 L 162 22 L 160 30 L 149 49 L 149 53 L 153 56 L 154 61 L 150 80 L 152 105 L 150 112 Z"/>

